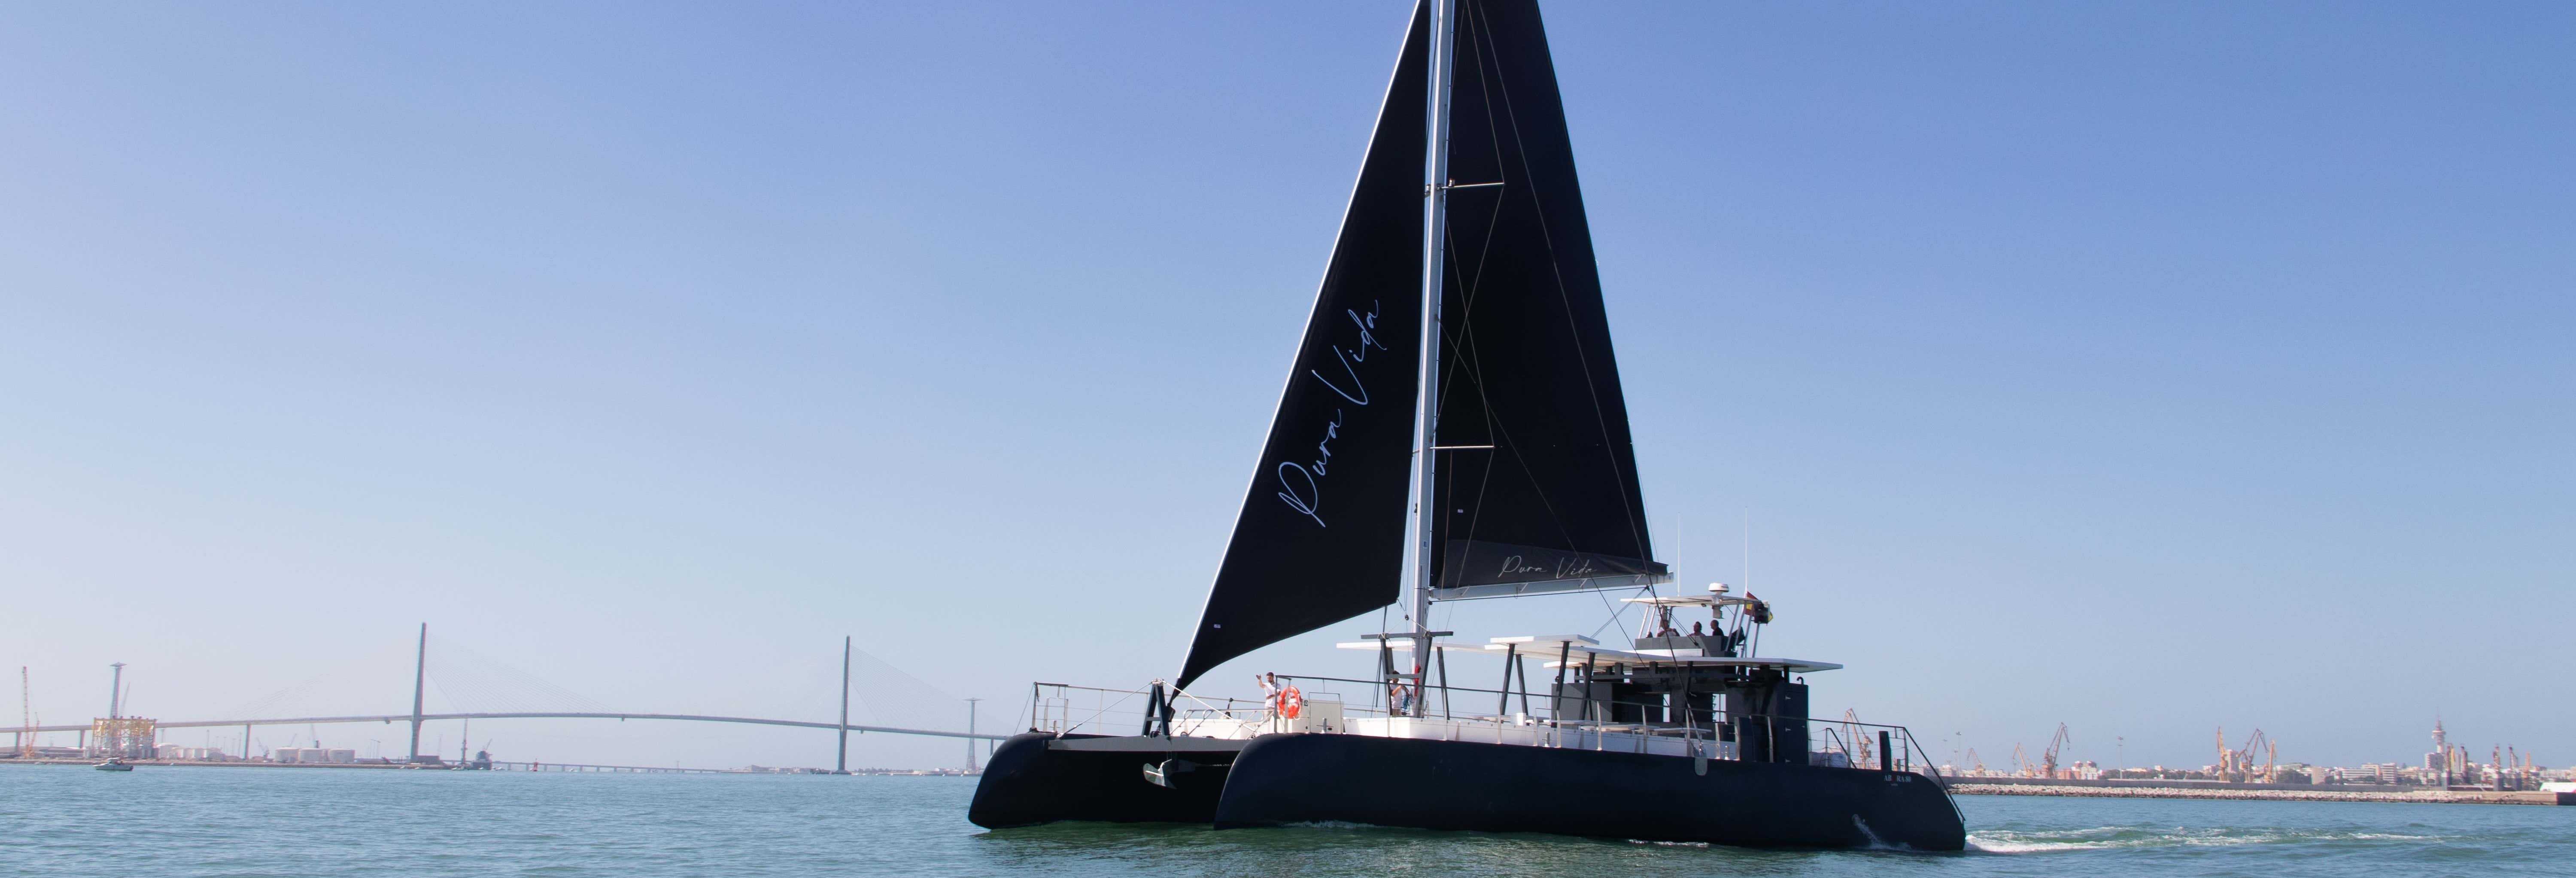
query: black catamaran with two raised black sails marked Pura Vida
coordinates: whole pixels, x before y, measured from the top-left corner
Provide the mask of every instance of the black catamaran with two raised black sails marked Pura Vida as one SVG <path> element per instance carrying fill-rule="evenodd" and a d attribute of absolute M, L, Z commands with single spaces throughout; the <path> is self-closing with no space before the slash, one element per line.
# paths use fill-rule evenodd
<path fill-rule="evenodd" d="M 1839 664 L 1762 657 L 1767 602 L 1672 582 L 1538 3 L 1422 0 L 1180 675 L 1033 685 L 1030 731 L 992 754 L 969 819 L 1965 845 L 1906 729 L 1808 718 L 1806 675 Z M 1625 644 L 1430 626 L 1435 602 L 1607 590 L 1643 608 Z M 1391 605 L 1406 631 L 1342 644 L 1370 677 L 1188 693 Z M 1502 685 L 1453 685 L 1450 654 L 1499 657 Z M 1363 698 L 1321 693 L 1350 685 Z"/>

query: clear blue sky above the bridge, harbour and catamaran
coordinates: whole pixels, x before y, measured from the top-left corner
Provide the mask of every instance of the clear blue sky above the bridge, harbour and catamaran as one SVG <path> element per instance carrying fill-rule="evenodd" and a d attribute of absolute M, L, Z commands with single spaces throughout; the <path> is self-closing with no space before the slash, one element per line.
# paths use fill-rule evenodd
<path fill-rule="evenodd" d="M 0 664 L 46 724 L 103 713 L 108 662 L 167 721 L 402 713 L 422 623 L 430 711 L 829 721 L 842 636 L 853 721 L 1167 677 L 1406 13 L 13 8 Z M 2576 762 L 2576 8 L 1548 28 L 1656 548 L 1685 587 L 1749 574 L 1765 654 L 1847 664 L 1819 713 L 1986 765 L 2056 724 L 2066 760 L 2264 729 L 2416 762 L 2434 718 Z M 1435 621 L 1615 639 L 1607 608 Z M 1332 644 L 1376 626 L 1198 690 L 1363 677 Z M 752 726 L 428 736 L 832 760 Z"/>

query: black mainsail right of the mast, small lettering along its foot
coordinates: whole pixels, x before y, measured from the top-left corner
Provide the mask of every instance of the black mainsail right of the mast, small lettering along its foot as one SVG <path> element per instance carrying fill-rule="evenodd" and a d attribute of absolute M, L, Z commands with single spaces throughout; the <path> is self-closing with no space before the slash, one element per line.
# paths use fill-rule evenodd
<path fill-rule="evenodd" d="M 1664 582 L 1538 3 L 1461 0 L 1453 82 L 1432 595 Z"/>

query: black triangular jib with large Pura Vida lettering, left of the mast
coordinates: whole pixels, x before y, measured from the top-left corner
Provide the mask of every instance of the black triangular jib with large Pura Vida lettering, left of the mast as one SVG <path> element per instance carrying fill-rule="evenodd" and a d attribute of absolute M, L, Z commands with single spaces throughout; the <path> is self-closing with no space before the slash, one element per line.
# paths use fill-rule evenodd
<path fill-rule="evenodd" d="M 1427 39 L 1430 13 L 1417 5 L 1262 463 L 1175 685 L 1396 600 L 1422 355 Z"/>

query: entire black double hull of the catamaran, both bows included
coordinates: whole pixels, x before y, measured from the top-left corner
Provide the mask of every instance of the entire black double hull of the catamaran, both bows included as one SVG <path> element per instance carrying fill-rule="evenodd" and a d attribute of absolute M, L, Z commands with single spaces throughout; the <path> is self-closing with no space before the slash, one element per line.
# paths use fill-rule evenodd
<path fill-rule="evenodd" d="M 1157 754 L 1046 749 L 1046 736 L 1023 734 L 994 754 L 969 819 L 992 829 L 1334 821 L 1747 847 L 1968 842 L 1950 796 L 1914 772 L 1708 760 L 1703 775 L 1690 757 L 1360 734 L 1265 734 L 1231 770 L 1182 778 L 1213 780 L 1198 785 L 1146 783 L 1149 760 Z"/>

